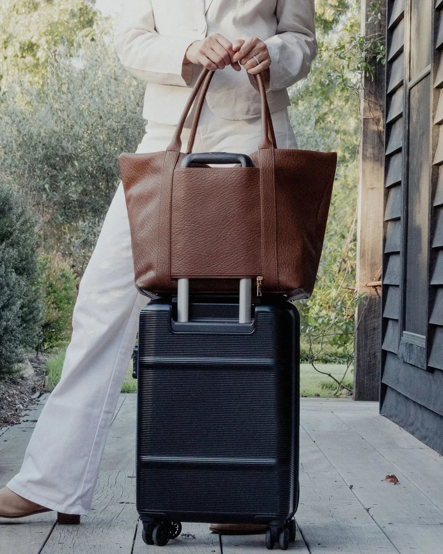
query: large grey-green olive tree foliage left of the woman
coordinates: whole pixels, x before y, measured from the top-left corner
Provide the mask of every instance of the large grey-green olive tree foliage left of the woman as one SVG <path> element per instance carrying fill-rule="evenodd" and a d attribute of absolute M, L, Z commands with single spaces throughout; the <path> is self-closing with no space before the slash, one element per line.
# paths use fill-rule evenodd
<path fill-rule="evenodd" d="M 118 156 L 143 135 L 143 84 L 121 65 L 107 25 L 94 37 L 48 61 L 42 84 L 17 78 L 0 100 L 0 177 L 42 218 L 45 252 L 61 252 L 78 275 L 119 184 Z"/>

